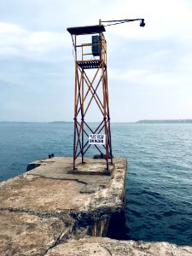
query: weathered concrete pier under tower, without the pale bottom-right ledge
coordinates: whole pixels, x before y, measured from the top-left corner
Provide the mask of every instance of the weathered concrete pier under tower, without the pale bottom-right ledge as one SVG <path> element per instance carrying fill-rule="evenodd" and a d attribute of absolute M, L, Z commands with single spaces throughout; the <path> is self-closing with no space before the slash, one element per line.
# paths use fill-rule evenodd
<path fill-rule="evenodd" d="M 104 166 L 85 161 L 79 170 Z M 70 237 L 105 236 L 110 216 L 124 211 L 126 160 L 114 159 L 111 176 L 69 174 L 72 158 L 32 164 L 38 167 L 0 183 L 0 255 L 44 255 Z"/>

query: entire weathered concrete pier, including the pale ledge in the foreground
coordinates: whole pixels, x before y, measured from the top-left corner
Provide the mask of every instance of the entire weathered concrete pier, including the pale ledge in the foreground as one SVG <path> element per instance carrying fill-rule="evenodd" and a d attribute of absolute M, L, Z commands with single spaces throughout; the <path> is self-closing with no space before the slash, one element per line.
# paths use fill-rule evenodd
<path fill-rule="evenodd" d="M 0 256 L 191 256 L 192 247 L 120 241 L 125 211 L 126 160 L 38 160 L 0 183 Z M 110 230 L 110 232 L 109 232 Z"/>

